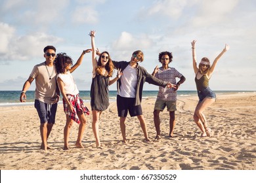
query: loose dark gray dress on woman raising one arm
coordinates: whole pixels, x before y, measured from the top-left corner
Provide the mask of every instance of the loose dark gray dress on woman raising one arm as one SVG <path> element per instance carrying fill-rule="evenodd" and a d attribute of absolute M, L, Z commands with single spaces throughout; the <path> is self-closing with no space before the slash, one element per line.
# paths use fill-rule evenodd
<path fill-rule="evenodd" d="M 91 109 L 106 110 L 110 105 L 108 99 L 109 76 L 96 75 L 91 83 Z"/>

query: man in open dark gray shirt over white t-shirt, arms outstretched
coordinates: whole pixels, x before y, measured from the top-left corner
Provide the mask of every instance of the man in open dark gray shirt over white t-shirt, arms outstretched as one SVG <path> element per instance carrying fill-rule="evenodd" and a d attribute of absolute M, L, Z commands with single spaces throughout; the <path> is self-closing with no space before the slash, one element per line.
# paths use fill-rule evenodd
<path fill-rule="evenodd" d="M 125 135 L 125 119 L 127 113 L 131 117 L 137 116 L 144 133 L 145 141 L 150 141 L 146 129 L 146 122 L 142 115 L 141 101 L 144 82 L 161 87 L 175 88 L 175 84 L 165 82 L 150 75 L 144 67 L 140 67 L 139 61 L 143 61 L 143 52 L 133 52 L 131 61 L 113 61 L 115 69 L 121 69 L 123 75 L 117 80 L 117 110 L 120 117 L 120 128 L 123 142 L 127 143 Z"/>

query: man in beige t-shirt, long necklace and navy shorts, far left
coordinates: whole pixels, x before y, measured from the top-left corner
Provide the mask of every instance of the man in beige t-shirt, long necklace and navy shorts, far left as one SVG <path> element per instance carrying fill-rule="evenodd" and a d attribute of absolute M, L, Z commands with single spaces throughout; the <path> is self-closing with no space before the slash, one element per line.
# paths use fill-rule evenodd
<path fill-rule="evenodd" d="M 56 84 L 56 69 L 54 60 L 56 48 L 46 46 L 43 49 L 45 61 L 33 67 L 32 73 L 22 88 L 20 102 L 26 102 L 26 92 L 35 80 L 35 108 L 40 118 L 41 149 L 47 150 L 47 139 L 55 123 L 55 115 L 60 98 L 60 92 Z"/>

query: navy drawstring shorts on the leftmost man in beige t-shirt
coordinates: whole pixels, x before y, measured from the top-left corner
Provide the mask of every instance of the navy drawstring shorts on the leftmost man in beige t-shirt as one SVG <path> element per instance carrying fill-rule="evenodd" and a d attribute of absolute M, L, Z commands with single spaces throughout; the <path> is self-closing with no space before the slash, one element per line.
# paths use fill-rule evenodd
<path fill-rule="evenodd" d="M 51 104 L 43 103 L 39 100 L 35 100 L 34 106 L 37 109 L 37 113 L 40 118 L 41 124 L 44 124 L 44 123 L 54 124 L 55 123 L 55 116 L 56 116 L 56 110 L 57 110 L 58 103 L 51 105 Z"/>

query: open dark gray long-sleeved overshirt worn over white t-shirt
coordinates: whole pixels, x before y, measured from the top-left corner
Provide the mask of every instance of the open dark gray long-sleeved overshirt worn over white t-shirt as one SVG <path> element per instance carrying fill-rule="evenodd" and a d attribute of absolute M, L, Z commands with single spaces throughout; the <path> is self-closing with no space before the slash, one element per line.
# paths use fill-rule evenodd
<path fill-rule="evenodd" d="M 128 65 L 129 61 L 113 61 L 115 69 L 121 69 L 123 71 Z M 152 75 L 150 75 L 144 67 L 140 67 L 139 63 L 137 63 L 137 85 L 136 85 L 136 96 L 135 96 L 135 104 L 140 105 L 142 100 L 142 90 L 144 82 L 148 82 L 149 84 L 154 84 L 157 86 L 165 87 L 167 82 L 162 81 Z M 121 80 L 117 80 L 117 92 L 119 92 L 121 86 Z"/>

